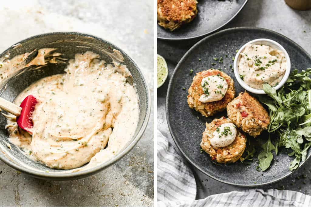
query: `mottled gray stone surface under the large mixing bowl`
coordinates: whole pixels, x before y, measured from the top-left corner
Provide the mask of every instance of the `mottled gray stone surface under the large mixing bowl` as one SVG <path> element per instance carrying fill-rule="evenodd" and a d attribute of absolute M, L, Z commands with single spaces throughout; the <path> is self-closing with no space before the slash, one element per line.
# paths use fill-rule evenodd
<path fill-rule="evenodd" d="M 0 51 L 26 37 L 79 31 L 113 42 L 144 71 L 153 100 L 153 1 L 2 2 Z M 151 106 L 153 109 L 153 104 Z M 0 206 L 152 206 L 153 110 L 142 139 L 104 171 L 73 181 L 44 181 L 0 161 Z"/>

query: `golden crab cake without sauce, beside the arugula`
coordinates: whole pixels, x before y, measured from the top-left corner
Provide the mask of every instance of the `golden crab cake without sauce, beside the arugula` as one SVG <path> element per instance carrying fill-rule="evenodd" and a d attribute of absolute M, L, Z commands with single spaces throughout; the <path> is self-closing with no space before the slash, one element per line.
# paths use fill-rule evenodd
<path fill-rule="evenodd" d="M 244 132 L 256 137 L 267 129 L 270 117 L 256 98 L 241 92 L 227 106 L 229 119 Z"/>

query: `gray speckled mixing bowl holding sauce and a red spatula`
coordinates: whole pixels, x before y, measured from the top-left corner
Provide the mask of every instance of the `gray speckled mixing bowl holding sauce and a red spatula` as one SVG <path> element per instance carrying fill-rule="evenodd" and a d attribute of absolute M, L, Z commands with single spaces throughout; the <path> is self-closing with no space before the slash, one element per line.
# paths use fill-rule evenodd
<path fill-rule="evenodd" d="M 6 119 L 4 116 L 0 116 L 0 159 L 5 162 L 7 165 L 25 172 L 33 177 L 41 179 L 52 179 L 52 180 L 72 180 L 82 177 L 87 177 L 92 174 L 95 174 L 106 167 L 117 162 L 125 154 L 127 154 L 138 140 L 142 137 L 142 134 L 145 131 L 146 125 L 149 120 L 150 110 L 151 110 L 151 100 L 149 94 L 149 88 L 147 82 L 142 74 L 142 71 L 139 69 L 137 64 L 130 58 L 124 51 L 122 51 L 117 46 L 105 41 L 101 38 L 81 34 L 77 32 L 53 32 L 46 33 L 37 36 L 27 38 L 19 42 L 20 47 L 11 46 L 6 51 L 4 51 L 0 57 L 10 53 L 10 58 L 23 54 L 25 52 L 33 51 L 34 49 L 40 48 L 57 48 L 55 52 L 60 52 L 63 55 L 62 58 L 73 59 L 76 53 L 83 53 L 86 51 L 93 51 L 101 56 L 102 59 L 107 62 L 111 61 L 111 58 L 103 52 L 108 51 L 112 52 L 113 49 L 120 51 L 124 57 L 123 64 L 127 65 L 128 69 L 132 73 L 133 82 L 136 84 L 137 93 L 139 96 L 140 104 L 140 117 L 139 123 L 137 125 L 135 134 L 133 138 L 128 142 L 128 145 L 124 147 L 118 155 L 113 157 L 110 161 L 105 162 L 97 167 L 74 173 L 61 173 L 63 170 L 56 170 L 49 167 L 46 167 L 39 162 L 34 162 L 31 159 L 27 158 L 18 147 L 13 144 L 10 144 L 8 140 L 8 133 L 5 129 Z M 77 47 L 79 46 L 79 47 Z M 9 101 L 13 101 L 15 97 L 24 90 L 27 86 L 33 82 L 54 74 L 63 73 L 63 70 L 67 64 L 48 64 L 45 67 L 42 67 L 40 70 L 25 70 L 23 73 L 15 75 L 13 78 L 7 81 L 7 87 L 1 86 L 0 95 L 2 98 Z M 12 150 L 7 148 L 7 143 L 12 147 Z M 30 168 L 27 168 L 30 166 Z M 46 172 L 48 171 L 48 172 Z"/>

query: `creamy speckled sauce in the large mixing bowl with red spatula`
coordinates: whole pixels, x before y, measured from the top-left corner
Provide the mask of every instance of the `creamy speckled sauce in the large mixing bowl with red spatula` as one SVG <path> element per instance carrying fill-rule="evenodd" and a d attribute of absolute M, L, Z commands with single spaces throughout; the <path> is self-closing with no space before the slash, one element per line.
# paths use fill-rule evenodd
<path fill-rule="evenodd" d="M 37 99 L 33 135 L 18 128 L 15 116 L 8 116 L 7 129 L 10 142 L 31 159 L 76 172 L 126 146 L 137 127 L 139 101 L 126 66 L 106 64 L 93 52 L 76 54 L 65 71 L 33 83 L 14 100 L 20 105 L 29 94 Z"/>

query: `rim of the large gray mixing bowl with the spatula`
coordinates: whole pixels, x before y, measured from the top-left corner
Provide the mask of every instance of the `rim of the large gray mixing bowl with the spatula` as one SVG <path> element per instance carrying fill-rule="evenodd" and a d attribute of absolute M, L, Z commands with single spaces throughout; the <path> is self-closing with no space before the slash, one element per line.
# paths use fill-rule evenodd
<path fill-rule="evenodd" d="M 49 32 L 49 33 L 42 33 L 42 34 L 38 34 L 35 36 L 30 36 L 27 37 L 24 40 L 21 40 L 15 44 L 13 44 L 12 46 L 10 46 L 9 48 L 7 48 L 5 51 L 3 51 L 0 54 L 1 56 L 4 56 L 5 54 L 7 54 L 7 51 L 12 50 L 17 44 L 22 44 L 26 41 L 29 40 L 33 40 L 35 38 L 38 37 L 42 37 L 42 36 L 51 36 L 51 35 L 58 35 L 58 34 L 62 34 L 62 35 L 78 35 L 78 36 L 88 36 L 88 37 L 92 37 L 95 38 L 99 41 L 101 41 L 102 43 L 108 43 L 110 44 L 114 49 L 120 51 L 122 53 L 122 55 L 127 56 L 127 58 L 136 66 L 138 73 L 141 74 L 143 82 L 145 83 L 146 86 L 146 98 L 147 98 L 147 106 L 146 106 L 146 115 L 145 115 L 145 120 L 141 126 L 141 128 L 139 129 L 137 136 L 132 140 L 132 142 L 126 147 L 124 148 L 121 152 L 119 152 L 116 156 L 114 156 L 111 160 L 104 162 L 103 164 L 100 164 L 98 166 L 92 167 L 90 169 L 87 170 L 83 170 L 83 171 L 78 171 L 78 172 L 71 172 L 71 173 L 50 173 L 50 172 L 39 172 L 39 171 L 34 171 L 31 169 L 28 169 L 26 167 L 22 167 L 22 166 L 18 166 L 16 163 L 12 162 L 9 158 L 7 158 L 5 156 L 5 153 L 2 152 L 0 154 L 0 160 L 2 160 L 4 163 L 6 163 L 8 166 L 24 172 L 26 174 L 29 174 L 33 177 L 36 178 L 41 178 L 41 179 L 49 179 L 49 180 L 71 180 L 71 179 L 78 179 L 78 178 L 83 178 L 83 177 L 87 177 L 87 176 L 91 176 L 97 172 L 102 171 L 103 169 L 109 167 L 110 165 L 114 164 L 115 162 L 117 162 L 118 160 L 120 160 L 122 157 L 124 157 L 128 152 L 130 152 L 130 150 L 137 144 L 137 142 L 140 140 L 140 138 L 142 137 L 143 133 L 146 130 L 147 124 L 149 123 L 149 118 L 150 118 L 150 114 L 151 114 L 151 98 L 150 98 L 150 90 L 149 90 L 149 86 L 148 86 L 148 82 L 146 81 L 146 76 L 144 75 L 143 71 L 141 70 L 141 68 L 138 66 L 137 62 L 135 60 L 133 60 L 132 57 L 130 57 L 128 55 L 128 53 L 126 53 L 124 50 L 120 49 L 118 46 L 116 46 L 115 44 L 106 41 L 100 37 L 94 36 L 94 35 L 90 35 L 90 34 L 86 34 L 86 33 L 81 33 L 81 32 L 68 32 L 68 31 L 57 31 L 57 32 Z"/>

